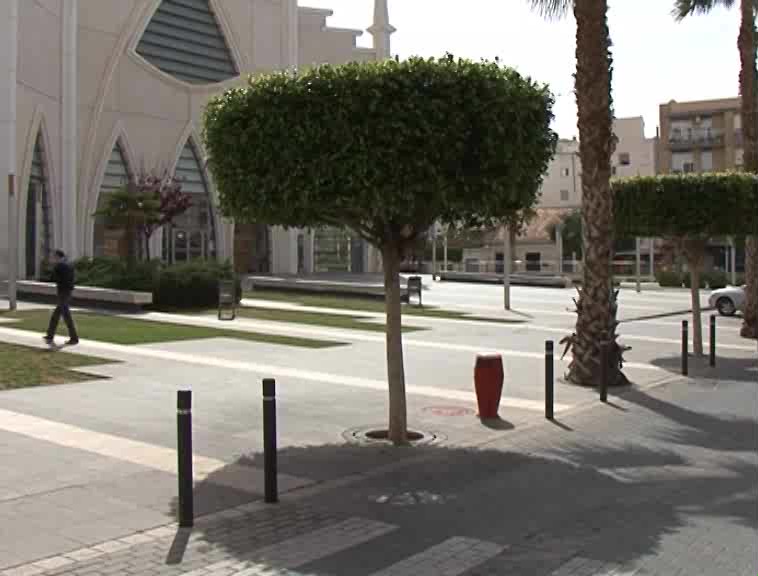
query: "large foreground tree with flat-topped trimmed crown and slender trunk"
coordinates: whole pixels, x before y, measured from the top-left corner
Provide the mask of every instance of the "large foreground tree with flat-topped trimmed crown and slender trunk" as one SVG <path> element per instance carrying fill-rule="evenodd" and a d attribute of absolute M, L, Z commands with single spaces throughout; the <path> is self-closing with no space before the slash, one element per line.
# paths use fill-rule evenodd
<path fill-rule="evenodd" d="M 406 441 L 399 267 L 435 221 L 491 224 L 537 201 L 553 97 L 453 56 L 251 78 L 210 102 L 204 137 L 236 221 L 344 226 L 382 253 L 389 436 Z"/>

